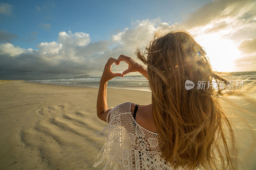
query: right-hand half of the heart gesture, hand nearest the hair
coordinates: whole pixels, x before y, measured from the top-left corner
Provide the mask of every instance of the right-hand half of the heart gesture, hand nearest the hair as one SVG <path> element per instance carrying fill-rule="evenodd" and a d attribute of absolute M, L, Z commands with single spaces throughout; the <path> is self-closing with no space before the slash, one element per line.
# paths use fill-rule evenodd
<path fill-rule="evenodd" d="M 124 61 L 125 63 L 128 64 L 128 69 L 124 70 L 122 73 L 122 76 L 124 77 L 125 74 L 131 73 L 131 72 L 142 72 L 146 70 L 142 65 L 134 61 L 131 57 L 125 56 L 125 55 L 120 55 L 117 59 L 117 64 L 120 64 L 120 61 Z"/>

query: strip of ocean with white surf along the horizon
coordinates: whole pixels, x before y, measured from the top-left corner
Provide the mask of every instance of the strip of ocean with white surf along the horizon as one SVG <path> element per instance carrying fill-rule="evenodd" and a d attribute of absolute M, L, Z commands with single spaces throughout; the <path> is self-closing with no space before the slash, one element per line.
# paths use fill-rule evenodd
<path fill-rule="evenodd" d="M 220 76 L 230 81 L 243 81 L 244 85 L 250 84 L 255 86 L 256 71 L 223 72 L 220 73 Z M 26 82 L 98 88 L 100 83 L 100 77 L 29 80 Z M 108 88 L 140 90 L 150 92 L 148 88 L 148 81 L 142 75 L 124 76 L 124 78 L 113 78 L 108 82 Z"/>

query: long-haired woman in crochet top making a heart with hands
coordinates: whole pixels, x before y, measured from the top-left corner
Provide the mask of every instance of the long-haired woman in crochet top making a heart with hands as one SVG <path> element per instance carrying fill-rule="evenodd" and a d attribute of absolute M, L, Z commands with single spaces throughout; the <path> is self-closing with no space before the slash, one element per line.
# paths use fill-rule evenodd
<path fill-rule="evenodd" d="M 102 159 L 95 166 L 105 163 L 105 168 L 114 169 L 234 169 L 227 144 L 228 135 L 234 144 L 232 127 L 218 104 L 218 90 L 212 87 L 213 80 L 224 79 L 212 72 L 202 47 L 185 31 L 163 36 L 156 33 L 146 53 L 137 49 L 136 55 L 147 69 L 120 55 L 117 60 L 110 58 L 103 71 L 97 115 L 108 123 L 101 131 L 107 132 L 107 140 Z M 111 65 L 121 61 L 129 68 L 123 74 L 112 73 Z M 141 106 L 124 102 L 108 108 L 108 80 L 137 71 L 148 79 L 152 103 Z M 186 90 L 186 80 L 210 86 Z"/>

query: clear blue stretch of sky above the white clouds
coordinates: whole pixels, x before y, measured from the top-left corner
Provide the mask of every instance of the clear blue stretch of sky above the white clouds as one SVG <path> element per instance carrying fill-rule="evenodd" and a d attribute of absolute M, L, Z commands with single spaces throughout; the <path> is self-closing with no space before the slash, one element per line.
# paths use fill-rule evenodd
<path fill-rule="evenodd" d="M 36 45 L 41 42 L 56 41 L 61 31 L 89 33 L 92 41 L 99 41 L 109 39 L 136 20 L 161 18 L 163 22 L 177 23 L 211 1 L 1 2 L 12 5 L 13 13 L 1 16 L 0 29 L 18 36 L 13 41 L 15 46 L 38 49 Z"/>

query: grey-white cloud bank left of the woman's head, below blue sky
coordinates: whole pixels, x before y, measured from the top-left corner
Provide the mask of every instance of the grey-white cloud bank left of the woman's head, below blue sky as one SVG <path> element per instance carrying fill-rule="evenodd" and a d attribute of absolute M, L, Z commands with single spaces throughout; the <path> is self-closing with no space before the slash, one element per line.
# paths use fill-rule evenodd
<path fill-rule="evenodd" d="M 121 54 L 134 57 L 137 47 L 144 47 L 157 30 L 166 26 L 159 20 L 137 21 L 133 28 L 113 35 L 109 41 L 92 42 L 84 32 L 60 32 L 58 39 L 42 42 L 38 50 L 23 49 L 11 43 L 0 44 L 1 78 L 65 78 L 79 74 L 100 76 L 109 57 Z M 125 64 L 113 71 L 124 70 Z"/>

